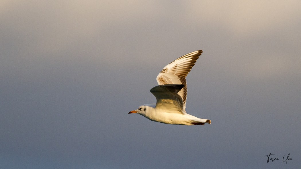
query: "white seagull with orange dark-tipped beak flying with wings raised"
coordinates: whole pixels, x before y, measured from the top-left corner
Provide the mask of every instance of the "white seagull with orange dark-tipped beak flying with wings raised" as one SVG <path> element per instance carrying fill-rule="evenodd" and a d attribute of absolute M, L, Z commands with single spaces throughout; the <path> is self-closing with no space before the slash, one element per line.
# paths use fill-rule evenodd
<path fill-rule="evenodd" d="M 185 77 L 194 63 L 202 54 L 197 50 L 179 57 L 166 65 L 157 76 L 159 86 L 153 87 L 150 92 L 157 99 L 156 104 L 144 104 L 131 113 L 138 113 L 155 122 L 178 125 L 204 125 L 211 123 L 209 119 L 200 119 L 185 111 L 187 84 Z"/>

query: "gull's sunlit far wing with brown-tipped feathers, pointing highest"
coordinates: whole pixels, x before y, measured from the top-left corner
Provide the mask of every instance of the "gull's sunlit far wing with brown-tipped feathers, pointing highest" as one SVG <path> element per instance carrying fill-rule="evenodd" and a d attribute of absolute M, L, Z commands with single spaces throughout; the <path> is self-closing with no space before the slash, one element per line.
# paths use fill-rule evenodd
<path fill-rule="evenodd" d="M 186 98 L 187 98 L 187 84 L 186 76 L 191 71 L 194 63 L 197 62 L 199 56 L 203 51 L 197 50 L 179 57 L 175 61 L 166 65 L 157 76 L 159 85 L 165 84 L 183 84 L 183 88 L 179 91 L 178 95 L 181 96 L 183 101 L 183 109 L 185 111 Z M 153 93 L 154 94 L 154 93 Z"/>

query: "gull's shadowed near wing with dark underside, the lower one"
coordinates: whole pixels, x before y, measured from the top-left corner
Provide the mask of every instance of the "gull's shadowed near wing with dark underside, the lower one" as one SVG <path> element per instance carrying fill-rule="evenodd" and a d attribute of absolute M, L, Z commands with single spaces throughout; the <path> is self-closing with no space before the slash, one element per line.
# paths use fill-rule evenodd
<path fill-rule="evenodd" d="M 183 84 L 166 84 L 153 87 L 150 92 L 157 99 L 156 109 L 169 113 L 185 114 L 183 99 L 178 95 L 183 87 Z"/>

